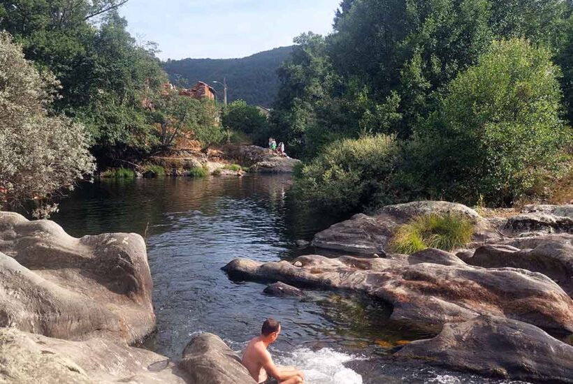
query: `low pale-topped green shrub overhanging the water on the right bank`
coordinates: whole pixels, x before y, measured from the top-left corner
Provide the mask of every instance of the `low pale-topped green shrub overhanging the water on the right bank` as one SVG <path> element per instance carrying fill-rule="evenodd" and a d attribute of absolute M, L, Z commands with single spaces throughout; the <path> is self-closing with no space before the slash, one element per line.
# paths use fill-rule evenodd
<path fill-rule="evenodd" d="M 393 202 L 396 198 L 386 193 L 397 156 L 394 136 L 334 142 L 296 170 L 294 188 L 304 200 L 339 212 L 370 205 L 374 196 Z"/>

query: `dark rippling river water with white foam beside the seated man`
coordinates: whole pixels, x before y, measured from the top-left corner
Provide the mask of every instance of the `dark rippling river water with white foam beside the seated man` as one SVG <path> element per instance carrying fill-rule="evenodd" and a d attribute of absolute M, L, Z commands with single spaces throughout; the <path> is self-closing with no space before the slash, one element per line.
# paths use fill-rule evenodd
<path fill-rule="evenodd" d="M 321 291 L 268 297 L 259 283 L 230 281 L 221 267 L 233 258 L 291 260 L 297 239 L 343 219 L 300 206 L 289 186 L 288 177 L 263 175 L 96 182 L 71 193 L 52 219 L 76 237 L 146 237 L 157 333 L 145 348 L 162 355 L 177 359 L 198 332 L 240 353 L 274 317 L 282 333 L 273 355 L 303 369 L 310 384 L 501 383 L 393 361 L 391 348 L 430 335 L 391 323 L 381 302 Z"/>

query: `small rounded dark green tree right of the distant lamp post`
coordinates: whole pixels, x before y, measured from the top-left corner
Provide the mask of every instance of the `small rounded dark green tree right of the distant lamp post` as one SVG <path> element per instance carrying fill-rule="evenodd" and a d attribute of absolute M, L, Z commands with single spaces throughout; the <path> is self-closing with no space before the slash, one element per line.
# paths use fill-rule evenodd
<path fill-rule="evenodd" d="M 252 135 L 256 142 L 263 144 L 268 135 L 268 121 L 266 115 L 254 105 L 238 100 L 229 104 L 224 111 L 222 123 L 225 128 Z"/>

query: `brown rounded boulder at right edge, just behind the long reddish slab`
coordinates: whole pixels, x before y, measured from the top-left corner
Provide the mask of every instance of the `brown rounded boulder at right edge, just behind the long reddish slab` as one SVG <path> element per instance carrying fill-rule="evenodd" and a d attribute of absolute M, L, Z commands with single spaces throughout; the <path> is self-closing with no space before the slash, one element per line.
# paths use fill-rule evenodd
<path fill-rule="evenodd" d="M 509 245 L 486 245 L 476 249 L 466 262 L 479 267 L 514 267 L 549 276 L 568 295 L 573 295 L 573 246 L 544 242 L 535 249 L 520 250 Z"/>

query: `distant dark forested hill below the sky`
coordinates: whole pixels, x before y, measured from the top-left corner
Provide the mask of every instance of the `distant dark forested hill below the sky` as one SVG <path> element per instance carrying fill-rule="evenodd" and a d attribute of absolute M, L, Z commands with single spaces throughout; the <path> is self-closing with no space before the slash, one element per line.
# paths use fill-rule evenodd
<path fill-rule="evenodd" d="M 183 77 L 187 85 L 200 80 L 211 84 L 226 77 L 229 102 L 242 98 L 249 104 L 269 107 L 277 94 L 277 68 L 291 51 L 292 47 L 280 47 L 242 59 L 170 59 L 164 68 L 172 82 Z M 216 89 L 222 98 L 221 87 Z"/>

